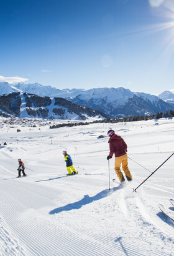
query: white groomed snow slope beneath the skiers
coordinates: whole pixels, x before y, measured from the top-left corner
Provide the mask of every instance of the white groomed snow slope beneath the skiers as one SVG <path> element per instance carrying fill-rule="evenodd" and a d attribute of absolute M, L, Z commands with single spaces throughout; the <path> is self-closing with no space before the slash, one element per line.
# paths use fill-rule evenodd
<path fill-rule="evenodd" d="M 174 120 L 9 127 L 0 129 L 0 255 L 174 255 L 174 222 L 158 208 L 174 215 L 174 156 L 132 192 L 172 154 Z M 112 182 L 112 157 L 111 190 L 108 129 L 126 141 L 134 179 Z M 66 177 L 63 150 L 78 175 Z M 19 158 L 28 177 L 16 179 Z"/>

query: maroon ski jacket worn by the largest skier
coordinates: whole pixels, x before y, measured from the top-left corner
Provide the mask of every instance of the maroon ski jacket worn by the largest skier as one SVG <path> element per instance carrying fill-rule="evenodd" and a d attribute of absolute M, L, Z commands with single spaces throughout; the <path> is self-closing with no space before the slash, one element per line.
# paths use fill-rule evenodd
<path fill-rule="evenodd" d="M 115 157 L 121 157 L 121 155 L 125 155 L 127 151 L 127 144 L 122 139 L 121 136 L 114 134 L 108 141 L 109 143 L 109 155 L 112 157 L 113 154 L 115 154 Z"/>

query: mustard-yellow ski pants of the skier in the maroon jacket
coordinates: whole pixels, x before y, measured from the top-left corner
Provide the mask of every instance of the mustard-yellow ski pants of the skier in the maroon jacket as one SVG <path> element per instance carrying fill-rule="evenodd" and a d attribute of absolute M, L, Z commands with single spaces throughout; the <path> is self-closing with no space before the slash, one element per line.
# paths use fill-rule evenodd
<path fill-rule="evenodd" d="M 122 170 L 124 170 L 124 173 L 126 175 L 126 179 L 131 181 L 132 175 L 128 168 L 128 161 L 127 161 L 127 154 L 121 155 L 121 157 L 116 157 L 115 159 L 115 172 L 117 174 L 117 177 L 119 178 L 119 181 L 124 181 L 124 176 L 121 172 L 121 164 L 122 164 Z"/>

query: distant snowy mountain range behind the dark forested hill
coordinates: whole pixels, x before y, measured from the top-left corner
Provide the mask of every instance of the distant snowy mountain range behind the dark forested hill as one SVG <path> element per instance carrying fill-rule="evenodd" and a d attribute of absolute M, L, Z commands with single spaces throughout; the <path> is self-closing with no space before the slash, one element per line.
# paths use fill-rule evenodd
<path fill-rule="evenodd" d="M 0 94 L 10 92 L 27 92 L 42 97 L 61 97 L 80 106 L 103 112 L 110 117 L 142 116 L 174 110 L 172 101 L 163 99 L 162 94 L 160 98 L 143 92 L 131 92 L 123 87 L 60 90 L 38 83 L 19 83 L 14 86 L 7 82 L 0 82 Z M 165 95 L 167 97 L 167 94 Z"/>

